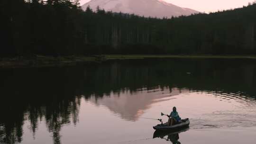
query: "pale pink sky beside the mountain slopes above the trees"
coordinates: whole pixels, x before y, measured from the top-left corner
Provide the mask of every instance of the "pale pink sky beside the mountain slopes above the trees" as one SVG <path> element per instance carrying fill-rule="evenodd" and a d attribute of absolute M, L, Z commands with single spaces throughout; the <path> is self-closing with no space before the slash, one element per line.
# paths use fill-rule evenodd
<path fill-rule="evenodd" d="M 81 0 L 84 4 L 90 0 Z M 248 2 L 254 0 L 165 0 L 183 8 L 195 9 L 201 12 L 214 12 L 223 9 L 233 9 L 247 6 Z"/>

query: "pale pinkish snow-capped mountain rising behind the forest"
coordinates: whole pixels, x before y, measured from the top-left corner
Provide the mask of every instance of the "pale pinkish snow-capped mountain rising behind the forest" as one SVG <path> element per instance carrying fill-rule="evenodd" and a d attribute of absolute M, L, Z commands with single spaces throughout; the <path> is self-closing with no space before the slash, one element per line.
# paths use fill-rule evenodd
<path fill-rule="evenodd" d="M 82 9 L 85 10 L 89 5 L 93 10 L 96 10 L 97 6 L 99 6 L 106 11 L 157 18 L 171 18 L 172 16 L 187 16 L 199 13 L 199 11 L 181 8 L 163 0 L 91 0 L 85 3 Z"/>

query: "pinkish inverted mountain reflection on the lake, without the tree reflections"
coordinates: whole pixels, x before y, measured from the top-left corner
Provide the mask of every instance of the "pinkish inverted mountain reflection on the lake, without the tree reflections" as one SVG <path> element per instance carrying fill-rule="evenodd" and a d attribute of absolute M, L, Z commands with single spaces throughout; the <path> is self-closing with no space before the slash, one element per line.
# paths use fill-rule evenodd
<path fill-rule="evenodd" d="M 188 92 L 188 90 L 176 88 L 160 90 L 160 88 L 157 87 L 154 89 L 155 92 L 151 91 L 152 90 L 138 90 L 132 93 L 128 91 L 121 94 L 110 93 L 106 98 L 96 99 L 95 96 L 92 96 L 87 100 L 96 105 L 106 106 L 115 114 L 119 114 L 121 118 L 136 121 L 153 103 L 167 101 L 172 99 L 171 96 Z"/>

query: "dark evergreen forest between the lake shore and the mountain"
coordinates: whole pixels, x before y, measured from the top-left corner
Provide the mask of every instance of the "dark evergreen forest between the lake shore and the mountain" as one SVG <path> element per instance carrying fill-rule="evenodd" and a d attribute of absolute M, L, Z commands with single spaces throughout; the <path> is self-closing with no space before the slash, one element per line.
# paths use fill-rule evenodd
<path fill-rule="evenodd" d="M 256 54 L 256 4 L 179 18 L 85 11 L 79 0 L 1 0 L 0 56 Z"/>

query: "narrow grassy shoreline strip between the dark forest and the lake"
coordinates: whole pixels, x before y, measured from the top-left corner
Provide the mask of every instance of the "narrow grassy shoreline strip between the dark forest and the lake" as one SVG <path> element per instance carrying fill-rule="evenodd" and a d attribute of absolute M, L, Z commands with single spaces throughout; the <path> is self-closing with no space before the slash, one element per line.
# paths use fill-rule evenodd
<path fill-rule="evenodd" d="M 34 57 L 14 57 L 0 58 L 0 68 L 18 67 L 45 67 L 45 66 L 65 66 L 77 63 L 100 63 L 107 60 L 128 60 L 146 58 L 222 58 L 222 59 L 256 59 L 256 55 L 93 55 L 93 56 L 41 56 Z"/>

